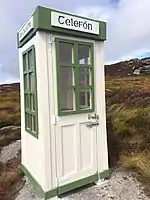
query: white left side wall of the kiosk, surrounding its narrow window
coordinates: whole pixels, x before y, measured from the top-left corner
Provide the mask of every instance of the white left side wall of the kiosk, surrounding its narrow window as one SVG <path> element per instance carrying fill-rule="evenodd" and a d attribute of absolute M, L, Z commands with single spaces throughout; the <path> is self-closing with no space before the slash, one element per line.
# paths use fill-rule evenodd
<path fill-rule="evenodd" d="M 47 92 L 41 91 L 43 85 L 47 85 L 46 79 L 41 76 L 39 66 L 39 53 L 36 49 L 36 61 L 37 61 L 37 90 L 38 90 L 38 112 L 39 112 L 39 139 L 34 138 L 32 135 L 25 131 L 25 115 L 24 115 L 24 87 L 23 87 L 23 62 L 22 53 L 30 46 L 35 45 L 35 48 L 39 45 L 37 36 L 34 36 L 29 42 L 27 42 L 22 48 L 19 49 L 19 66 L 20 66 L 20 92 L 21 92 L 21 144 L 22 144 L 22 164 L 28 169 L 32 176 L 39 182 L 44 190 L 47 190 L 45 182 L 45 144 L 44 134 L 48 132 L 47 117 Z M 42 53 L 41 53 L 42 54 Z M 42 55 L 41 55 L 42 56 Z M 44 56 L 44 54 L 43 54 Z M 43 70 L 44 71 L 44 70 Z M 40 78 L 39 78 L 40 77 Z M 42 98 L 45 99 L 44 104 Z M 44 123 L 44 124 L 43 124 Z"/>

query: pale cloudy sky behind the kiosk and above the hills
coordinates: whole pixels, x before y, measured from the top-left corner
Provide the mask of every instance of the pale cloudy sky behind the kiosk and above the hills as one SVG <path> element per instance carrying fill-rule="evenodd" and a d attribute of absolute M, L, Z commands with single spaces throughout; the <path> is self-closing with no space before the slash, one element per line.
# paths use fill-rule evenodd
<path fill-rule="evenodd" d="M 19 80 L 16 33 L 37 5 L 107 21 L 105 63 L 150 55 L 150 0 L 0 0 L 0 83 Z"/>

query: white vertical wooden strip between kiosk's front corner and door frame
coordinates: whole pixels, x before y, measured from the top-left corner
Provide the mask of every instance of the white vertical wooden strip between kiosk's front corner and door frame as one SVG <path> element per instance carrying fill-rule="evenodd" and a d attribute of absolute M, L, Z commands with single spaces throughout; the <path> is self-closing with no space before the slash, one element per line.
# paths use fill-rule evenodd
<path fill-rule="evenodd" d="M 45 173 L 45 187 L 46 191 L 57 187 L 56 182 L 56 166 L 55 166 L 55 137 L 52 128 L 52 113 L 53 113 L 53 86 L 51 83 L 52 66 L 49 66 L 49 59 L 51 60 L 51 44 L 47 42 L 47 34 L 44 32 L 37 32 L 37 60 L 38 60 L 38 102 L 39 105 L 39 122 L 42 122 L 42 130 L 40 135 L 44 137 L 44 156 L 45 167 L 43 167 Z M 50 62 L 51 64 L 51 62 Z M 49 76 L 50 75 L 50 76 Z M 49 90 L 50 89 L 50 90 Z M 45 95 L 44 95 L 45 94 Z"/>

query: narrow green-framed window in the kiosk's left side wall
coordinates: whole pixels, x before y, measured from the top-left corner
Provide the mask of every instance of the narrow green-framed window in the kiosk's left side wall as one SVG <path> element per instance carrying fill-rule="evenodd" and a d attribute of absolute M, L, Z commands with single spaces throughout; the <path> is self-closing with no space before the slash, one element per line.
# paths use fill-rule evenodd
<path fill-rule="evenodd" d="M 24 82 L 25 130 L 38 138 L 36 57 L 34 45 L 22 54 Z"/>

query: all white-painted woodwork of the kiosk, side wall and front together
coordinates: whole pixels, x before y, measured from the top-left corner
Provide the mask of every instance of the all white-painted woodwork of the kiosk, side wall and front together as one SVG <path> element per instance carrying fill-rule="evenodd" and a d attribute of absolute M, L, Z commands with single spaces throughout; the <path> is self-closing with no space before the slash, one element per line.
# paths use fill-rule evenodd
<path fill-rule="evenodd" d="M 86 126 L 88 113 L 57 115 L 55 37 L 94 44 L 95 112 L 100 117 L 97 127 Z M 37 67 L 38 139 L 25 131 L 24 124 L 22 52 L 33 44 Z M 44 32 L 37 32 L 19 49 L 22 164 L 45 192 L 108 169 L 103 49 L 101 42 Z"/>

